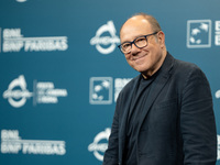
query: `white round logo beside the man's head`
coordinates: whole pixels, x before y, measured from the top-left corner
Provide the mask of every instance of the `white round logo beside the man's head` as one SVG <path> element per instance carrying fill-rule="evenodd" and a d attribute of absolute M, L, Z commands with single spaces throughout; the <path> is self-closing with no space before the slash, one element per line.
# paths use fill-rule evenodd
<path fill-rule="evenodd" d="M 101 36 L 103 33 L 109 33 L 110 36 Z M 110 54 L 117 47 L 117 44 L 120 43 L 119 36 L 116 35 L 117 30 L 114 28 L 113 21 L 108 21 L 107 24 L 99 28 L 94 36 L 90 40 L 91 45 L 96 45 L 96 48 L 101 54 Z"/>

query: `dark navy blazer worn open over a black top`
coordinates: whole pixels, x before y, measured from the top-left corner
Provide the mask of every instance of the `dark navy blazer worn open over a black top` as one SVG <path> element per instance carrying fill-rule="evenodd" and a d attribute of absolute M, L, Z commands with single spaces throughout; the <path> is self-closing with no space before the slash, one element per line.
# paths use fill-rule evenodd
<path fill-rule="evenodd" d="M 140 75 L 141 76 L 141 75 Z M 123 165 L 127 117 L 139 76 L 120 92 L 103 165 Z M 138 165 L 215 165 L 217 133 L 205 74 L 167 53 L 138 129 Z"/>

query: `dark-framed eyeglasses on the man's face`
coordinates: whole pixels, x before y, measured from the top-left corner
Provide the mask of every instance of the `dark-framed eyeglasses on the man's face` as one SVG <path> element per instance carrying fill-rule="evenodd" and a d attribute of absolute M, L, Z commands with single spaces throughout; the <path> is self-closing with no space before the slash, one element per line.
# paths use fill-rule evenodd
<path fill-rule="evenodd" d="M 150 35 L 155 35 L 155 34 L 157 34 L 157 33 L 158 33 L 158 32 L 154 32 L 154 33 L 152 33 L 152 34 L 139 36 L 139 37 L 134 38 L 133 42 L 124 42 L 124 43 L 122 43 L 121 45 L 119 45 L 118 47 L 119 47 L 119 50 L 120 50 L 122 53 L 124 53 L 124 54 L 131 52 L 132 44 L 134 44 L 134 45 L 135 45 L 136 47 L 139 47 L 139 48 L 143 48 L 143 47 L 147 46 L 147 44 L 148 44 L 148 43 L 147 43 L 147 36 L 150 36 Z"/>

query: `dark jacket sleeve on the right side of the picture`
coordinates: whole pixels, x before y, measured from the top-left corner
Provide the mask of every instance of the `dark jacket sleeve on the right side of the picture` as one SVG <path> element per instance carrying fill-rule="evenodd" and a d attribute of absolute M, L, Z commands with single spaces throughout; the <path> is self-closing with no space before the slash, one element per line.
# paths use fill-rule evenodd
<path fill-rule="evenodd" d="M 217 132 L 212 97 L 205 74 L 194 67 L 182 97 L 180 128 L 185 165 L 215 165 Z"/>

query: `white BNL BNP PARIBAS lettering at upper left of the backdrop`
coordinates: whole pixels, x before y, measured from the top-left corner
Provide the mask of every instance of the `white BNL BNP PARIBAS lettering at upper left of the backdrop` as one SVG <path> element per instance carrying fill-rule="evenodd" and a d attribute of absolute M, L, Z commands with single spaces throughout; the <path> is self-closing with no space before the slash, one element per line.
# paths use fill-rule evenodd
<path fill-rule="evenodd" d="M 67 36 L 24 37 L 21 29 L 4 29 L 2 52 L 51 52 L 66 51 Z"/>

